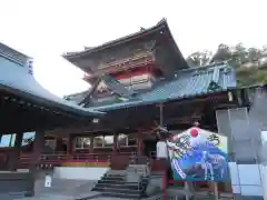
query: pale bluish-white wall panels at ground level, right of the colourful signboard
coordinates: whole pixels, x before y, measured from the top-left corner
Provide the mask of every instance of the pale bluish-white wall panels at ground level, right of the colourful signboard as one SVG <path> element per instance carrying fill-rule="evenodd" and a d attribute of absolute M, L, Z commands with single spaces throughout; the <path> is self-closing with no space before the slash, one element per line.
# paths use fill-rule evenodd
<path fill-rule="evenodd" d="M 263 178 L 260 164 L 236 164 L 229 162 L 234 193 L 263 197 Z M 266 171 L 267 173 L 267 171 Z"/>

